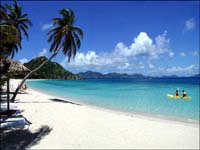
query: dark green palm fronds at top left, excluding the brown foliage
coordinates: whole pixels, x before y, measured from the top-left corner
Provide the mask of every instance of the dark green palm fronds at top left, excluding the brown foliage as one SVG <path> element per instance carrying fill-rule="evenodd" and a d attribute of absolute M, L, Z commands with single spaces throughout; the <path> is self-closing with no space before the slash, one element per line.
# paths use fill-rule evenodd
<path fill-rule="evenodd" d="M 18 52 L 19 48 L 21 49 L 21 41 L 22 41 L 22 32 L 28 39 L 28 33 L 27 30 L 29 29 L 29 26 L 32 25 L 31 21 L 28 18 L 28 14 L 22 13 L 22 7 L 18 5 L 17 1 L 14 1 L 14 5 L 5 5 L 3 7 L 1 5 L 1 25 L 8 25 L 12 28 L 15 27 L 19 33 L 18 38 L 19 42 L 15 42 L 10 45 L 8 53 L 11 56 L 11 58 L 14 57 L 14 54 Z"/>

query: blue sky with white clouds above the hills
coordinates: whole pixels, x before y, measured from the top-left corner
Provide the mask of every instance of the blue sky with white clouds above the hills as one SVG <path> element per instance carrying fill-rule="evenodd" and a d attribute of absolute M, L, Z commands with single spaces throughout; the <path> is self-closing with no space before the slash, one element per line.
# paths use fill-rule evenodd
<path fill-rule="evenodd" d="M 13 4 L 3 1 L 3 4 Z M 190 76 L 199 73 L 199 1 L 19 1 L 33 26 L 14 59 L 50 57 L 47 32 L 58 10 L 74 11 L 84 32 L 70 63 L 60 52 L 53 61 L 73 72 Z"/>

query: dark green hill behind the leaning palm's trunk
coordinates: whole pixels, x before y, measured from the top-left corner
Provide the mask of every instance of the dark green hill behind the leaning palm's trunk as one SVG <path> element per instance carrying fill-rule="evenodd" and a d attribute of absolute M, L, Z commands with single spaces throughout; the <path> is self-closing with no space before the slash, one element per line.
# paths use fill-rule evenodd
<path fill-rule="evenodd" d="M 28 69 L 33 70 L 38 67 L 42 62 L 47 60 L 45 56 L 37 57 L 24 63 Z M 80 79 L 78 75 L 75 75 L 67 70 L 65 70 L 57 62 L 47 62 L 42 68 L 40 68 L 31 78 L 37 79 L 65 79 L 65 80 L 76 80 Z"/>

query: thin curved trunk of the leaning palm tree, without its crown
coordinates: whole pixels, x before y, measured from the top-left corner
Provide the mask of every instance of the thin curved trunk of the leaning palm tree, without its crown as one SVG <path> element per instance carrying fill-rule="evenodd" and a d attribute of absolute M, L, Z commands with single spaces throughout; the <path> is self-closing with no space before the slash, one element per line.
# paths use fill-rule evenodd
<path fill-rule="evenodd" d="M 51 56 L 48 60 L 44 61 L 40 66 L 38 66 L 37 68 L 35 68 L 34 70 L 32 70 L 30 73 L 28 73 L 28 74 L 24 77 L 24 79 L 21 81 L 21 83 L 18 85 L 17 89 L 15 90 L 15 93 L 14 93 L 13 96 L 12 96 L 11 102 L 14 102 L 14 101 L 15 101 L 15 98 L 16 98 L 16 96 L 17 96 L 17 94 L 18 94 L 20 88 L 22 87 L 22 85 L 23 85 L 24 82 L 26 81 L 26 79 L 28 79 L 33 73 L 35 73 L 36 71 L 38 71 L 38 70 L 39 70 L 42 66 L 44 66 L 47 62 L 51 61 L 51 59 L 54 58 L 54 57 L 57 55 L 57 53 L 59 52 L 59 49 L 60 49 L 60 48 L 58 48 L 57 51 L 54 52 L 54 53 L 52 54 L 52 56 Z"/>

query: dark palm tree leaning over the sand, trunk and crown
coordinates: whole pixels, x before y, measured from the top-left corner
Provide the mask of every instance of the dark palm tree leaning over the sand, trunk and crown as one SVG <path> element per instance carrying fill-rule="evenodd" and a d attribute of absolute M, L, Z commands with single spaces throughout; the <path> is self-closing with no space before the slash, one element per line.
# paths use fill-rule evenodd
<path fill-rule="evenodd" d="M 62 50 L 64 55 L 68 56 L 68 62 L 70 62 L 71 57 L 74 58 L 76 56 L 76 51 L 81 46 L 80 39 L 83 38 L 83 31 L 80 28 L 73 26 L 75 22 L 75 16 L 71 9 L 61 9 L 59 14 L 62 17 L 53 18 L 53 28 L 48 32 L 48 42 L 51 42 L 51 57 L 24 77 L 17 87 L 12 97 L 12 101 L 15 100 L 20 87 L 24 84 L 26 79 L 39 70 L 47 62 L 49 62 L 52 58 L 54 58 L 59 51 Z"/>

